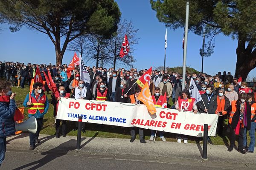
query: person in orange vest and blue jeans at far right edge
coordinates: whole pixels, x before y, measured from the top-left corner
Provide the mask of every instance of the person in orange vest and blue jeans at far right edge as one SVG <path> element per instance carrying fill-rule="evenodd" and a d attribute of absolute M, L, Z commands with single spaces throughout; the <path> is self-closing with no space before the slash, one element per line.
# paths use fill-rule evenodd
<path fill-rule="evenodd" d="M 251 127 L 250 130 L 245 127 L 244 130 L 244 144 L 243 148 L 245 149 L 244 151 L 247 153 L 253 153 L 254 152 L 254 145 L 255 145 L 255 130 L 256 130 L 256 102 L 254 99 L 254 94 L 253 93 L 248 93 L 248 101 L 250 103 L 251 107 Z M 250 136 L 250 144 L 249 147 L 247 147 L 247 131 L 249 131 L 249 136 Z"/>

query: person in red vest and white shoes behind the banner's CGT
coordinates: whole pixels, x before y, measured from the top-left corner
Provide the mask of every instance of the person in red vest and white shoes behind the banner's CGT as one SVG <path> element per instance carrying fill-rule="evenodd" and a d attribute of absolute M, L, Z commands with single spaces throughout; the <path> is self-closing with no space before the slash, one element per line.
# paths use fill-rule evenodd
<path fill-rule="evenodd" d="M 152 99 L 155 107 L 162 108 L 164 98 L 163 98 L 163 95 L 160 95 L 160 88 L 154 89 L 154 95 L 152 95 Z M 151 136 L 149 139 L 150 141 L 154 140 L 155 133 L 156 133 L 156 130 L 151 130 Z M 163 131 L 159 131 L 159 137 L 160 139 L 162 139 L 162 141 L 166 141 L 165 137 L 163 136 Z"/>

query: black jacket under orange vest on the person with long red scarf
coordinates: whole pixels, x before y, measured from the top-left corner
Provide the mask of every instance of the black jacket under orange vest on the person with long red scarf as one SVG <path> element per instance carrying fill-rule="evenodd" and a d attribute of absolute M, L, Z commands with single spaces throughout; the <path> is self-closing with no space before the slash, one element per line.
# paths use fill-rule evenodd
<path fill-rule="evenodd" d="M 227 111 L 227 113 L 230 113 L 232 111 L 232 105 L 230 107 L 228 107 L 225 111 Z M 250 130 L 250 124 L 251 124 L 251 107 L 250 107 L 250 103 L 246 102 L 246 119 L 247 119 L 247 130 Z M 233 127 L 234 129 L 236 128 L 238 121 L 240 119 L 240 100 L 236 101 L 236 112 L 233 115 L 232 118 L 232 122 L 231 122 L 231 127 Z"/>

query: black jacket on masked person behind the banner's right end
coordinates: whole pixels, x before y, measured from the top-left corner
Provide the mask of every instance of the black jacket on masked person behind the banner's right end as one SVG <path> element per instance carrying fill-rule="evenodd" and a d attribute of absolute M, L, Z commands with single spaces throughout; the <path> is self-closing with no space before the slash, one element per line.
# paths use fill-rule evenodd
<path fill-rule="evenodd" d="M 215 92 L 212 93 L 212 97 L 210 99 L 210 102 L 208 104 L 208 97 L 207 95 L 208 94 L 202 94 L 201 97 L 204 101 L 204 103 L 202 101 L 198 102 L 196 105 L 198 106 L 199 111 L 200 113 L 207 113 L 204 111 L 205 107 L 208 109 L 208 113 L 209 114 L 215 114 L 215 111 L 217 109 L 217 96 L 215 95 Z M 205 107 L 204 107 L 204 104 L 205 104 Z"/>

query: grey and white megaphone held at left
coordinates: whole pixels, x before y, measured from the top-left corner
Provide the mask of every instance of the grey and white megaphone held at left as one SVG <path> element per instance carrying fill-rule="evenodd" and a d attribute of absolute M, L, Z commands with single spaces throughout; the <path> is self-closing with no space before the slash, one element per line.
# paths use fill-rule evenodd
<path fill-rule="evenodd" d="M 37 121 L 35 119 L 35 116 L 31 116 L 29 119 L 27 119 L 25 122 L 22 123 L 15 123 L 15 129 L 16 131 L 27 131 L 31 133 L 36 133 L 38 128 Z"/>

